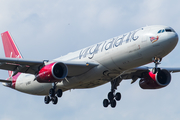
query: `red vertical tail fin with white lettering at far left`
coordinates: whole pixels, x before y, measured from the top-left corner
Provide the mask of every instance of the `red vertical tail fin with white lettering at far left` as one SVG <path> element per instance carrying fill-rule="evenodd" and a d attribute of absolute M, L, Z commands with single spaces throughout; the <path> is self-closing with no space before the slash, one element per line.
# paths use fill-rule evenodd
<path fill-rule="evenodd" d="M 22 58 L 20 51 L 14 43 L 11 35 L 8 31 L 1 34 L 5 56 L 8 58 Z M 9 76 L 12 75 L 12 71 L 8 71 Z"/>

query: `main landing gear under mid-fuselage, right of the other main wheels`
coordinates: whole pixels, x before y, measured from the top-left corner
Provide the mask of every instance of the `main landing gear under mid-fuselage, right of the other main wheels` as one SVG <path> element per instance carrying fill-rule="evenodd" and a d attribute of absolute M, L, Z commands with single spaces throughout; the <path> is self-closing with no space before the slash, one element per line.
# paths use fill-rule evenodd
<path fill-rule="evenodd" d="M 104 99 L 104 101 L 103 101 L 104 107 L 108 107 L 108 105 L 111 105 L 112 108 L 115 108 L 116 101 L 120 101 L 121 93 L 119 93 L 119 92 L 115 93 L 115 91 L 121 81 L 122 81 L 122 79 L 120 77 L 111 81 L 111 91 L 108 93 L 108 99 Z"/>

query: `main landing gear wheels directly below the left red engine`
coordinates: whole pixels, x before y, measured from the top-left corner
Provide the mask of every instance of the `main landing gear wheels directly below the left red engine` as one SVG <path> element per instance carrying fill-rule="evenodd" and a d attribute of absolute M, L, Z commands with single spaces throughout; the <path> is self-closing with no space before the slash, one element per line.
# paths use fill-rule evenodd
<path fill-rule="evenodd" d="M 56 84 L 57 83 L 53 83 L 53 88 L 49 90 L 49 95 L 44 97 L 45 104 L 49 104 L 49 102 L 52 101 L 52 103 L 55 105 L 58 102 L 58 97 L 62 97 L 63 92 L 61 89 L 56 91 Z"/>

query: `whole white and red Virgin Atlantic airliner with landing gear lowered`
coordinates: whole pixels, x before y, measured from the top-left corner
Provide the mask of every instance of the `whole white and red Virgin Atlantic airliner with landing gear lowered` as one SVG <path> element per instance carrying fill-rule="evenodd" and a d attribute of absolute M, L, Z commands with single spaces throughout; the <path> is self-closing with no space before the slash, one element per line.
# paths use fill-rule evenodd
<path fill-rule="evenodd" d="M 57 104 L 67 90 L 110 83 L 103 106 L 115 108 L 122 80 L 131 79 L 131 84 L 139 80 L 142 89 L 160 89 L 171 82 L 172 72 L 180 72 L 180 68 L 158 67 L 178 43 L 178 34 L 164 25 L 142 27 L 51 61 L 26 60 L 8 31 L 1 37 L 6 58 L 0 58 L 0 69 L 7 70 L 9 77 L 0 82 L 23 93 L 45 96 L 45 104 Z M 144 66 L 151 62 L 154 67 Z"/>

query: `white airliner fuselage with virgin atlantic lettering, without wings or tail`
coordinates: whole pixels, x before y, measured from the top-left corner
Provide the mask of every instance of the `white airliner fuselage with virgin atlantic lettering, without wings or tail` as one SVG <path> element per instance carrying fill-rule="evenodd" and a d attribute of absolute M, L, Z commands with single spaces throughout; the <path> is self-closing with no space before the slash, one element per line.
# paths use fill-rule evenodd
<path fill-rule="evenodd" d="M 171 29 L 172 31 L 165 31 Z M 158 33 L 159 30 L 164 30 Z M 90 47 L 69 53 L 54 61 L 87 61 L 99 65 L 79 76 L 64 79 L 57 84 L 63 91 L 92 88 L 111 81 L 124 71 L 163 58 L 178 42 L 178 35 L 167 26 L 147 26 Z M 31 74 L 20 74 L 15 89 L 34 95 L 48 95 L 51 83 L 38 83 Z"/>

